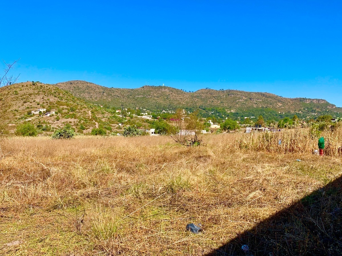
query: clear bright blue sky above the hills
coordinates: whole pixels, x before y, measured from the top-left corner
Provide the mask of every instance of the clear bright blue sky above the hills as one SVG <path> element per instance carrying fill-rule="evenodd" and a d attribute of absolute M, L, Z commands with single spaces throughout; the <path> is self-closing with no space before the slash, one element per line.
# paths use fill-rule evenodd
<path fill-rule="evenodd" d="M 341 1 L 2 1 L 19 81 L 267 91 L 342 106 Z"/>

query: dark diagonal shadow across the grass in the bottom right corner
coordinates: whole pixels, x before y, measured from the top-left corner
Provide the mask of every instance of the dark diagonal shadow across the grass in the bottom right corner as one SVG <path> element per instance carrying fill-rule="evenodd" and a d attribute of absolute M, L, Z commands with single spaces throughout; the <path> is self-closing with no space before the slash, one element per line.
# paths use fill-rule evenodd
<path fill-rule="evenodd" d="M 206 256 L 342 255 L 342 177 L 293 203 Z M 247 244 L 251 254 L 241 246 Z"/>

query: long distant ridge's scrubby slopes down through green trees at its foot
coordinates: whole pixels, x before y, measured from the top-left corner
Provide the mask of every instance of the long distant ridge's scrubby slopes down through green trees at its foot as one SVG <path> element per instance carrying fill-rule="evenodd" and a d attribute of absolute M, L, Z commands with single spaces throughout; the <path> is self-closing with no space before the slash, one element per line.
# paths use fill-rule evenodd
<path fill-rule="evenodd" d="M 86 81 L 57 83 L 57 87 L 90 103 L 108 108 L 140 107 L 156 113 L 174 111 L 178 108 L 191 113 L 199 110 L 205 118 L 232 118 L 263 115 L 265 119 L 280 120 L 296 114 L 301 119 L 319 115 L 341 116 L 337 108 L 323 99 L 284 98 L 270 93 L 253 93 L 239 90 L 200 89 L 185 92 L 168 86 L 143 86 L 136 89 L 108 88 Z"/>

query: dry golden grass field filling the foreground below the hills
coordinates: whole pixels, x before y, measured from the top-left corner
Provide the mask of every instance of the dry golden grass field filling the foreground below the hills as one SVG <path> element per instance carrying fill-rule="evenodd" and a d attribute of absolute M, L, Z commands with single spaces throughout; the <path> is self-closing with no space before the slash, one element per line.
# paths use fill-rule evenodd
<path fill-rule="evenodd" d="M 199 147 L 162 136 L 4 139 L 0 255 L 245 255 L 215 249 L 342 174 L 341 158 L 313 155 L 314 143 L 277 152 L 240 136 L 207 135 Z M 331 199 L 341 193 L 333 193 L 322 193 L 320 209 L 341 216 L 341 201 Z M 331 240 L 297 218 L 295 235 L 276 235 L 269 247 L 274 255 L 312 255 L 329 244 L 327 255 L 338 255 L 341 217 L 331 216 L 315 220 Z M 188 223 L 203 232 L 186 231 Z M 332 225 L 337 230 L 325 229 Z"/>

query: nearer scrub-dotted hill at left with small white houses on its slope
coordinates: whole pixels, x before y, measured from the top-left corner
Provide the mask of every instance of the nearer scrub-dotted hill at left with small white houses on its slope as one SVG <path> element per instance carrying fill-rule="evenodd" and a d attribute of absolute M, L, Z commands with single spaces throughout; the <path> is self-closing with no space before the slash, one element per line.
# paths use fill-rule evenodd
<path fill-rule="evenodd" d="M 2 87 L 0 100 L 1 123 L 5 123 L 11 132 L 23 123 L 35 125 L 42 135 L 51 134 L 66 124 L 78 133 L 89 133 L 98 127 L 110 133 L 122 129 L 119 123 L 136 123 L 133 118 L 117 115 L 115 110 L 102 108 L 54 85 L 40 82 Z M 50 116 L 45 115 L 46 112 L 50 112 Z M 142 122 L 141 118 L 139 122 Z"/>

